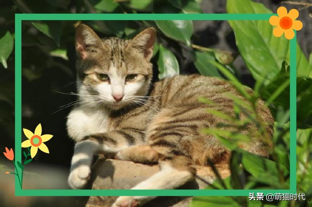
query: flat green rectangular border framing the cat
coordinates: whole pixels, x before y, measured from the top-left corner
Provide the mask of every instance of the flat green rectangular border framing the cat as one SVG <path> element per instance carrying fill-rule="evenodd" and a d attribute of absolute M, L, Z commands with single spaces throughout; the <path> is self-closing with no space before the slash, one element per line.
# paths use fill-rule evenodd
<path fill-rule="evenodd" d="M 15 14 L 15 157 L 21 162 L 22 20 L 269 20 L 276 14 Z M 290 40 L 290 189 L 288 190 L 22 190 L 16 196 L 248 196 L 296 193 L 296 31 Z"/>

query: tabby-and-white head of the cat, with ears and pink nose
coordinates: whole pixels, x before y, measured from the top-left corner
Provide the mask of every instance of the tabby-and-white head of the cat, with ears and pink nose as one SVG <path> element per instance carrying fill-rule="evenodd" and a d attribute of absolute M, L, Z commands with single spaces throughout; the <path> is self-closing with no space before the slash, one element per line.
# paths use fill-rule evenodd
<path fill-rule="evenodd" d="M 100 39 L 88 26 L 76 28 L 77 90 L 81 105 L 120 109 L 142 101 L 153 71 L 150 59 L 156 30 L 147 28 L 132 40 Z"/>

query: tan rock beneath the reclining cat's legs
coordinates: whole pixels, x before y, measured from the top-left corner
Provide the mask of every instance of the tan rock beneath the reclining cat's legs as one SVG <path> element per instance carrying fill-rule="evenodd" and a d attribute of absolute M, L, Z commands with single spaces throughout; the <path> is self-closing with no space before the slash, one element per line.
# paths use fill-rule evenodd
<path fill-rule="evenodd" d="M 92 168 L 92 175 L 86 187 L 87 189 L 131 189 L 159 171 L 158 165 L 143 165 L 129 161 L 105 160 L 104 158 L 99 158 Z M 229 174 L 229 170 L 226 170 L 221 176 L 225 178 Z M 198 166 L 197 175 L 208 183 L 212 183 L 215 178 L 210 167 Z M 178 189 L 203 189 L 207 185 L 204 181 L 196 178 Z M 87 207 L 110 207 L 116 198 L 116 196 L 90 196 L 89 198 L 80 198 L 78 204 Z M 163 196 L 150 201 L 144 206 L 187 207 L 191 199 L 190 196 Z"/>

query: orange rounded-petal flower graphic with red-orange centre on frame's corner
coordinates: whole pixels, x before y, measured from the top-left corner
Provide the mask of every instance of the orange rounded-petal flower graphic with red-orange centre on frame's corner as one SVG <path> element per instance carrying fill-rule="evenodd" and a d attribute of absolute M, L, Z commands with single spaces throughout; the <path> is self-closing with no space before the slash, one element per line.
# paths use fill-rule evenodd
<path fill-rule="evenodd" d="M 299 16 L 297 9 L 291 9 L 287 14 L 287 9 L 285 7 L 279 7 L 277 9 L 278 16 L 270 17 L 270 24 L 277 26 L 273 30 L 275 37 L 280 37 L 285 33 L 287 39 L 292 39 L 295 37 L 294 30 L 300 30 L 302 28 L 302 22 L 295 20 Z"/>

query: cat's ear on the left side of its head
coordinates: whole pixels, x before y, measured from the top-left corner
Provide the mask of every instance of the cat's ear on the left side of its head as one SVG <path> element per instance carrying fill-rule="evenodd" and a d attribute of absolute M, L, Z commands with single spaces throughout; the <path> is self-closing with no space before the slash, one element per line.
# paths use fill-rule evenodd
<path fill-rule="evenodd" d="M 90 52 L 97 52 L 101 47 L 102 41 L 95 32 L 85 24 L 79 24 L 76 28 L 76 52 L 84 60 Z"/>

